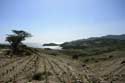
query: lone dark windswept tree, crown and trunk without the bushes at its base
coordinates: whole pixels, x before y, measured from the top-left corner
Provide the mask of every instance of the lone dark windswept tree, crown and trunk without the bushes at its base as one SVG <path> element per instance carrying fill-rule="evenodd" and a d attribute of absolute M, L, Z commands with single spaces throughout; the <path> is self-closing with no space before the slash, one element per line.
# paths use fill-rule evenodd
<path fill-rule="evenodd" d="M 31 37 L 31 34 L 22 31 L 22 30 L 12 30 L 14 34 L 10 34 L 6 37 L 6 41 L 10 43 L 10 47 L 13 54 L 17 54 L 19 52 L 20 46 L 22 46 L 22 41 L 24 41 L 27 37 Z"/>

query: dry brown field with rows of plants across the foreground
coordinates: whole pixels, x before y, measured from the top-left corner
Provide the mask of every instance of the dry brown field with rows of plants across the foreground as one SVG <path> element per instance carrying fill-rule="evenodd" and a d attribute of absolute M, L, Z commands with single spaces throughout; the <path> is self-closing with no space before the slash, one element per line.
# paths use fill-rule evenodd
<path fill-rule="evenodd" d="M 125 83 L 124 51 L 72 59 L 43 50 L 10 58 L 4 50 L 0 50 L 0 83 Z"/>

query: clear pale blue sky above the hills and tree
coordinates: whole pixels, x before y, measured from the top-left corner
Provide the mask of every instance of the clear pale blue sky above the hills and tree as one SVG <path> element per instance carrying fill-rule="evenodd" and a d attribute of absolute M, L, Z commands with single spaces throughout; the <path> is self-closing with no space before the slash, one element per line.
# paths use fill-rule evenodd
<path fill-rule="evenodd" d="M 125 0 L 0 0 L 0 42 L 11 30 L 28 43 L 125 34 Z"/>

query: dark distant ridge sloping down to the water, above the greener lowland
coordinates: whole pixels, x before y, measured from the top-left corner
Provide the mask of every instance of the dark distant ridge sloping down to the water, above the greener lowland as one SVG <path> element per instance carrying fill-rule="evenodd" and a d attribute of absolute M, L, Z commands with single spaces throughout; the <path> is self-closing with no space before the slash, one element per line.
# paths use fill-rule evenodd
<path fill-rule="evenodd" d="M 64 49 L 85 49 L 93 47 L 115 47 L 125 45 L 125 35 L 108 35 L 92 37 L 61 44 Z"/>

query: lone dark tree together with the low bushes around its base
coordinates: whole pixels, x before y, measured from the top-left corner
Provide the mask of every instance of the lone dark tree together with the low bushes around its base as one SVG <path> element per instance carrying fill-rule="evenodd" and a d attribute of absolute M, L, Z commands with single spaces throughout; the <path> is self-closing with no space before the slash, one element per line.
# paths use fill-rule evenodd
<path fill-rule="evenodd" d="M 22 30 L 12 30 L 12 32 L 13 34 L 6 37 L 10 47 L 7 55 L 31 55 L 30 48 L 22 43 L 26 38 L 31 37 L 31 34 Z"/>

